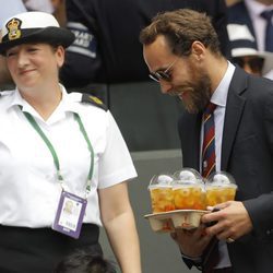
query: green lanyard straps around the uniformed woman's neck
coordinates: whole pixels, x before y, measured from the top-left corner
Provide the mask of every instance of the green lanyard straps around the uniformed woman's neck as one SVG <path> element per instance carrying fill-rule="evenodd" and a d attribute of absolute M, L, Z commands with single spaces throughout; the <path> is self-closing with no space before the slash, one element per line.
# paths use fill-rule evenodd
<path fill-rule="evenodd" d="M 38 126 L 38 123 L 36 122 L 36 120 L 34 119 L 34 117 L 29 112 L 26 112 L 26 111 L 23 111 L 23 114 L 25 115 L 25 117 L 27 118 L 27 120 L 29 121 L 29 123 L 33 126 L 33 128 L 36 130 L 36 132 L 44 140 L 44 142 L 46 143 L 48 150 L 50 151 L 50 153 L 51 153 L 51 155 L 54 157 L 54 164 L 55 164 L 56 169 L 57 169 L 58 180 L 59 180 L 59 182 L 62 186 L 63 178 L 62 178 L 62 176 L 60 174 L 60 162 L 59 162 L 58 155 L 57 155 L 57 153 L 56 153 L 56 151 L 54 149 L 54 145 L 51 144 L 51 142 L 49 141 L 49 139 L 46 136 L 46 134 L 43 132 L 43 130 L 40 129 L 40 127 Z M 92 146 L 92 144 L 90 142 L 90 139 L 88 139 L 88 135 L 87 135 L 87 133 L 85 131 L 85 128 L 83 126 L 81 117 L 76 112 L 73 112 L 73 114 L 74 114 L 74 119 L 79 123 L 80 131 L 83 134 L 83 136 L 84 136 L 84 139 L 85 139 L 85 141 L 87 143 L 88 150 L 91 152 L 91 164 L 90 164 L 90 171 L 88 171 L 87 182 L 86 182 L 86 197 L 87 197 L 87 194 L 91 191 L 91 179 L 92 179 L 93 170 L 94 170 L 94 150 L 93 150 L 93 146 Z"/>

